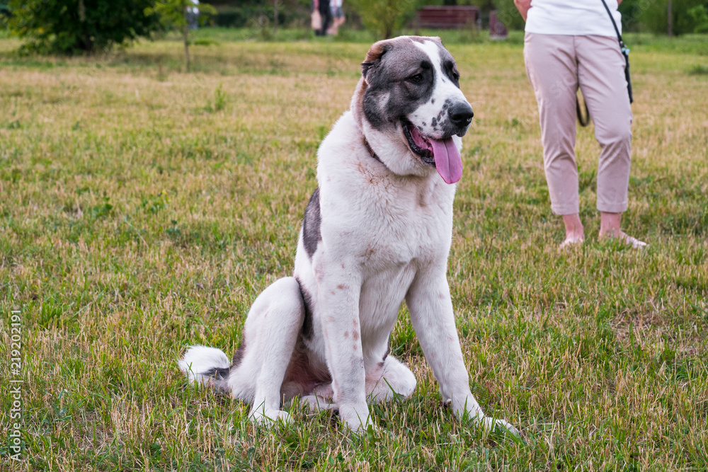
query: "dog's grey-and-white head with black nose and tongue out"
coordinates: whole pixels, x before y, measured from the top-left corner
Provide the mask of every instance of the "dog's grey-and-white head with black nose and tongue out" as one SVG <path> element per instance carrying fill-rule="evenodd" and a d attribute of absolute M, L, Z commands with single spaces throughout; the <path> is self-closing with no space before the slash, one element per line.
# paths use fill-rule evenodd
<path fill-rule="evenodd" d="M 378 133 L 406 146 L 404 156 L 394 153 L 397 162 L 384 161 L 392 170 L 419 174 L 421 166 L 433 167 L 445 182 L 459 180 L 459 137 L 473 113 L 459 90 L 455 59 L 440 38 L 401 36 L 372 45 L 352 111 L 370 142 L 377 140 L 370 134 Z"/>

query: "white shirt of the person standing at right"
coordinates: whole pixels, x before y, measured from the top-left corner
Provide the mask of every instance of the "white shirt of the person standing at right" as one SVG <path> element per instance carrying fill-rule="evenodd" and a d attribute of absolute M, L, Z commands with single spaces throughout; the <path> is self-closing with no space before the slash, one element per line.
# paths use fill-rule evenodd
<path fill-rule="evenodd" d="M 622 15 L 617 0 L 605 0 L 622 33 Z M 617 38 L 602 0 L 531 0 L 526 18 L 527 33 L 544 35 L 600 35 Z"/>

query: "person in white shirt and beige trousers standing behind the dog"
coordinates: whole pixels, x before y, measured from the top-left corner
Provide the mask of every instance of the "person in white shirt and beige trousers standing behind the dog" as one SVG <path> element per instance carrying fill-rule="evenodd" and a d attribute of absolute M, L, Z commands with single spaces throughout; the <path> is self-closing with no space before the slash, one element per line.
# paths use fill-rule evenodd
<path fill-rule="evenodd" d="M 622 27 L 619 1 L 605 0 Z M 524 21 L 524 60 L 539 110 L 544 171 L 551 209 L 562 217 L 561 248 L 583 243 L 575 159 L 578 87 L 595 122 L 600 144 L 597 209 L 600 238 L 619 238 L 634 248 L 646 243 L 620 229 L 627 210 L 632 109 L 624 55 L 603 0 L 514 0 Z"/>

